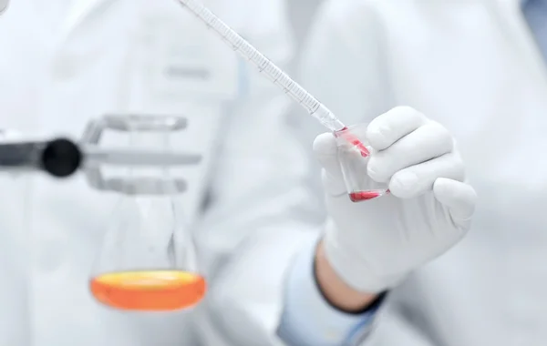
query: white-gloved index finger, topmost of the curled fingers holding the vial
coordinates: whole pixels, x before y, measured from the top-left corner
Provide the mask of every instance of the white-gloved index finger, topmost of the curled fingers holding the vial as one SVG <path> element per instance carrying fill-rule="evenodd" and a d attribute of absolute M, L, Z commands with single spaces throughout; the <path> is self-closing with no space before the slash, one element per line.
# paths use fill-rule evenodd
<path fill-rule="evenodd" d="M 372 148 L 384 150 L 427 121 L 423 114 L 411 107 L 395 107 L 370 122 L 366 138 Z"/>

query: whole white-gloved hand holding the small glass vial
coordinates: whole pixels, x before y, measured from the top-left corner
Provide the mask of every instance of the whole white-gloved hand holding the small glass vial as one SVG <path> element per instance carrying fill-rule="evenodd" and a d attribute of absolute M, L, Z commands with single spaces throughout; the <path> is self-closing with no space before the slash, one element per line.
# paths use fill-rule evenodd
<path fill-rule="evenodd" d="M 377 293 L 455 245 L 470 229 L 477 199 L 464 182 L 464 165 L 445 127 L 409 107 L 375 118 L 368 178 L 391 194 L 360 203 L 347 197 L 335 137 L 315 138 L 323 166 L 328 220 L 325 256 L 355 290 Z"/>

